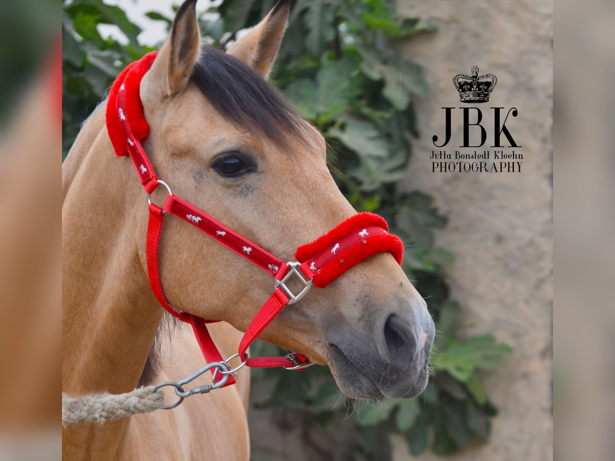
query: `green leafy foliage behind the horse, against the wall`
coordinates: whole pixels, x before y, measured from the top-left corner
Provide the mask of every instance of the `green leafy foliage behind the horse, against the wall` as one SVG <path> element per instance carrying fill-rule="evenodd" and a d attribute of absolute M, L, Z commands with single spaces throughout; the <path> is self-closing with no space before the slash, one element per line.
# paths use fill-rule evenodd
<path fill-rule="evenodd" d="M 226 0 L 200 18 L 204 41 L 228 47 L 236 33 L 256 24 L 274 0 Z M 113 77 L 149 49 L 138 43 L 140 30 L 119 7 L 100 0 L 75 0 L 64 6 L 64 114 L 65 152 L 79 124 L 100 101 Z M 148 17 L 170 25 L 157 12 Z M 99 23 L 119 26 L 127 37 L 120 45 L 104 39 Z M 300 373 L 280 369 L 253 370 L 255 384 L 271 390 L 264 402 L 310 415 L 315 424 L 339 424 L 352 418 L 351 436 L 340 443 L 368 459 L 379 459 L 388 446 L 387 435 L 402 433 L 413 454 L 427 447 L 450 454 L 475 440 L 487 441 L 490 420 L 496 414 L 477 372 L 498 366 L 509 353 L 491 336 L 459 339 L 459 305 L 449 299 L 443 267 L 453 254 L 434 246 L 434 230 L 444 229 L 432 197 L 423 192 L 401 192 L 397 181 L 405 176 L 416 135 L 413 101 L 429 93 L 423 71 L 400 57 L 395 41 L 434 26 L 417 18 L 399 18 L 391 0 L 297 0 L 280 49 L 272 80 L 295 108 L 327 138 L 333 175 L 347 199 L 359 211 L 376 211 L 391 224 L 407 248 L 403 269 L 428 297 L 438 329 L 432 352 L 435 376 L 421 396 L 387 400 L 361 410 L 344 409 L 339 390 L 325 367 Z M 253 355 L 279 355 L 265 343 Z M 336 433 L 336 431 L 331 431 Z M 359 435 L 357 435 L 357 433 Z M 379 453 L 379 455 L 377 455 Z"/>

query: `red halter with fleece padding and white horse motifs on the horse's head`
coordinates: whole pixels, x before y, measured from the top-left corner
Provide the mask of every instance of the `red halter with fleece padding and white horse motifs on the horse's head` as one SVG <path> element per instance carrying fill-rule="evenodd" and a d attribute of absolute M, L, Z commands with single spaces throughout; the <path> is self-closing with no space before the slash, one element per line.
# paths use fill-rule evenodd
<path fill-rule="evenodd" d="M 239 352 L 226 360 L 239 356 L 242 360 L 240 366 L 247 364 L 257 368 L 273 366 L 282 366 L 287 369 L 306 368 L 311 364 L 308 357 L 298 353 L 292 353 L 286 357 L 248 358 L 246 350 L 285 305 L 299 301 L 312 285 L 324 288 L 346 270 L 376 253 L 391 253 L 401 264 L 403 243 L 399 237 L 388 233 L 387 223 L 381 216 L 373 213 L 358 213 L 346 219 L 328 234 L 322 235 L 315 242 L 300 246 L 295 254 L 297 261 L 300 262 L 284 262 L 263 250 L 256 243 L 250 242 L 247 238 L 216 221 L 204 211 L 173 195 L 170 187 L 158 179 L 154 173 L 154 168 L 141 146 L 141 140 L 149 134 L 149 125 L 143 115 L 143 104 L 141 104 L 139 95 L 140 82 L 151 67 L 154 58 L 156 58 L 156 52 L 149 53 L 140 61 L 127 66 L 117 76 L 111 86 L 106 109 L 107 130 L 116 155 L 130 156 L 141 184 L 148 194 L 147 264 L 151 288 L 164 309 L 181 321 L 192 325 L 205 360 L 208 362 L 223 361 L 207 331 L 206 324 L 211 321 L 174 309 L 162 291 L 158 246 L 165 214 L 175 215 L 205 232 L 229 250 L 248 259 L 275 279 L 275 290 L 245 331 L 239 344 Z M 154 205 L 149 200 L 149 194 L 159 184 L 163 184 L 169 192 L 164 208 Z M 303 290 L 298 294 L 292 293 L 285 285 L 285 282 L 293 275 L 303 283 Z M 240 367 L 236 369 L 238 368 Z M 216 382 L 220 379 L 221 375 L 218 376 Z M 226 385 L 234 382 L 230 374 Z"/>

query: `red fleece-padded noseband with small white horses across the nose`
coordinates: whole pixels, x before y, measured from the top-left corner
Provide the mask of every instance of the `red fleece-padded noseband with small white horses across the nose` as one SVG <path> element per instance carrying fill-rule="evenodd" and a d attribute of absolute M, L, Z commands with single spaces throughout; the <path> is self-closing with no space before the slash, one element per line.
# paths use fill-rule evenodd
<path fill-rule="evenodd" d="M 391 253 L 401 265 L 402 240 L 389 234 L 389 226 L 381 216 L 358 213 L 314 242 L 300 246 L 295 256 L 297 261 L 303 261 L 304 272 L 314 274 L 314 286 L 325 288 L 346 270 L 377 253 Z"/>

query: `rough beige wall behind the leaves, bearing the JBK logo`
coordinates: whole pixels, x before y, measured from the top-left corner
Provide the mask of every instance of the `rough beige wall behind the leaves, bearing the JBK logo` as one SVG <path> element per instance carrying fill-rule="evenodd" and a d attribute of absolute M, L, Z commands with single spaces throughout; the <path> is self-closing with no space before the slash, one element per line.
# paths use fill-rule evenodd
<path fill-rule="evenodd" d="M 403 187 L 434 195 L 449 218 L 437 243 L 456 256 L 447 272 L 452 296 L 463 307 L 462 331 L 493 333 L 514 348 L 502 368 L 484 374 L 500 410 L 490 444 L 453 459 L 550 460 L 552 2 L 400 0 L 398 9 L 438 26 L 402 45 L 403 55 L 424 67 L 432 92 L 416 103 L 421 137 Z M 431 172 L 431 139 L 444 133 L 440 108 L 464 105 L 452 77 L 469 74 L 472 65 L 498 77 L 490 103 L 478 105 L 491 119 L 484 124 L 488 142 L 488 108 L 519 111 L 506 125 L 523 146 L 515 149 L 524 157 L 522 173 Z M 450 146 L 461 144 L 461 133 L 461 124 L 453 125 Z M 394 445 L 395 460 L 411 458 L 403 440 Z"/>

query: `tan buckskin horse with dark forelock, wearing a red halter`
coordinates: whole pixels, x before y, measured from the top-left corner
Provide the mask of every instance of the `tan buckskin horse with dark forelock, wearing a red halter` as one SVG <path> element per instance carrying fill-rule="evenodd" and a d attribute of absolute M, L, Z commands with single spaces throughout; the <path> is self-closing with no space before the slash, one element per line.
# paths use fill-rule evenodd
<path fill-rule="evenodd" d="M 140 107 L 119 99 L 124 84 L 112 87 L 113 104 L 110 95 L 87 120 L 63 164 L 63 392 L 125 393 L 202 367 L 185 323 L 157 335 L 168 325 L 160 304 L 193 323 L 216 321 L 208 334 L 220 357 L 231 356 L 276 282 L 276 312 L 252 336 L 296 352 L 271 363 L 327 364 L 353 398 L 418 395 L 434 324 L 400 268 L 399 248 L 375 247 L 397 237 L 344 199 L 322 135 L 268 81 L 289 2 L 278 2 L 226 53 L 201 47 L 195 3 L 182 4 L 161 50 L 148 58 L 131 100 Z M 139 113 L 143 119 L 132 120 Z M 151 193 L 149 207 L 137 179 Z M 152 262 L 148 219 L 151 227 L 165 214 Z M 319 245 L 321 259 L 308 254 Z M 296 260 L 300 266 L 280 262 Z M 336 269 L 344 264 L 350 268 Z M 280 282 L 291 273 L 322 288 L 281 309 L 299 297 L 291 282 Z M 295 282 L 304 294 L 312 280 Z M 245 347 L 233 360 L 267 366 L 248 359 Z M 244 367 L 235 385 L 172 411 L 70 426 L 64 459 L 247 460 L 248 392 Z"/>

